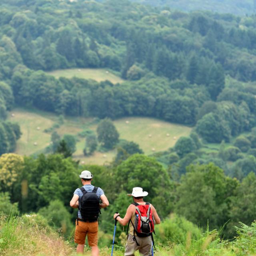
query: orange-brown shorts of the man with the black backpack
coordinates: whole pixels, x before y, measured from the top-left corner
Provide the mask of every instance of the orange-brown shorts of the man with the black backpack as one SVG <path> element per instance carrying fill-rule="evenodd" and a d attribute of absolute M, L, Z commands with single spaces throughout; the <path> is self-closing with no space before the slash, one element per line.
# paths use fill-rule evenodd
<path fill-rule="evenodd" d="M 78 225 L 76 221 L 75 243 L 85 244 L 86 235 L 89 246 L 98 245 L 98 221 L 82 222 L 78 220 Z"/>

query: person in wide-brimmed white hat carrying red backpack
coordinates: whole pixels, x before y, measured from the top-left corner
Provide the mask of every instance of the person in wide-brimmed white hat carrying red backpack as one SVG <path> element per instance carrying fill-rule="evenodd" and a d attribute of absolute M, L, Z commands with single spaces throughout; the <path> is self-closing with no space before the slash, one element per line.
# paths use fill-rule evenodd
<path fill-rule="evenodd" d="M 134 187 L 132 193 L 127 195 L 132 196 L 133 203 L 127 208 L 124 218 L 121 218 L 119 213 L 114 214 L 114 219 L 122 226 L 129 223 L 124 256 L 134 256 L 137 250 L 142 256 L 151 256 L 154 224 L 160 224 L 160 218 L 154 206 L 144 202 L 144 196 L 147 196 L 148 192 L 143 191 L 143 188 Z"/>

